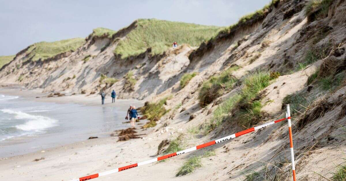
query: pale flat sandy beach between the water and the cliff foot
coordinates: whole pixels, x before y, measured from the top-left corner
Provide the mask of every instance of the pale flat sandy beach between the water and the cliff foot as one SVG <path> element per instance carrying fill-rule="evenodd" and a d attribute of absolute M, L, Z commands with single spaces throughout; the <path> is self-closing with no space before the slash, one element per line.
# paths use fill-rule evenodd
<path fill-rule="evenodd" d="M 99 96 L 71 95 L 63 97 L 45 98 L 47 94 L 39 93 L 39 90 L 28 91 L 16 89 L 1 89 L 1 93 L 9 95 L 19 95 L 28 100 L 56 102 L 64 104 L 66 102 L 79 103 L 93 106 L 113 106 L 114 104 L 106 103 L 100 105 Z M 39 98 L 36 98 L 39 97 Z M 107 100 L 106 100 L 107 102 Z M 129 103 L 143 105 L 143 102 L 138 100 L 117 100 L 119 104 L 127 106 Z M 125 120 L 125 119 L 124 119 Z M 145 123 L 146 120 L 137 122 L 138 134 L 143 134 L 142 139 L 130 139 L 129 141 L 118 141 L 118 137 L 105 137 L 60 145 L 58 147 L 47 148 L 36 152 L 16 155 L 12 157 L 0 158 L 0 180 L 71 180 L 74 178 L 83 177 L 89 174 L 116 169 L 132 163 L 149 160 L 157 157 L 157 146 L 164 138 L 175 138 L 179 134 L 185 134 L 185 128 L 181 129 L 177 124 L 173 127 L 158 130 L 159 127 L 139 129 L 138 124 Z M 189 127 L 189 125 L 187 125 Z M 187 127 L 186 127 L 187 128 Z M 111 132 L 100 133 L 110 134 Z M 95 135 L 97 136 L 97 135 Z M 202 143 L 204 139 L 197 139 L 192 135 L 186 135 L 189 141 L 184 143 L 185 147 Z M 197 143 L 196 143 L 197 141 Z M 123 172 L 100 177 L 95 180 L 200 180 L 205 179 L 210 175 L 205 170 L 208 167 L 203 167 L 196 172 L 199 176 L 186 175 L 185 177 L 175 177 L 177 169 L 190 154 L 203 154 L 206 149 L 181 155 L 173 159 L 168 159 L 164 162 L 155 162 L 143 167 L 126 170 Z M 215 157 L 215 156 L 214 156 Z M 39 160 L 44 158 L 42 160 Z M 38 159 L 39 161 L 34 161 Z M 204 159 L 203 164 L 212 167 L 222 167 L 219 162 L 213 162 L 213 159 Z M 227 164 L 226 162 L 222 163 Z"/>

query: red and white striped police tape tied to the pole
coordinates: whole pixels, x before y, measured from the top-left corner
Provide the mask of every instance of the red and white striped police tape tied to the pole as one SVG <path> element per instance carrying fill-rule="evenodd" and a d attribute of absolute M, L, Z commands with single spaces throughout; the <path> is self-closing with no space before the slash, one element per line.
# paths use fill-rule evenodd
<path fill-rule="evenodd" d="M 285 119 L 290 120 L 291 117 L 282 118 L 282 119 L 279 119 L 279 120 L 276 120 L 276 121 L 268 122 L 268 123 L 265 123 L 265 124 L 262 124 L 262 125 L 259 125 L 259 126 L 256 126 L 256 127 L 253 127 L 253 128 L 247 129 L 247 130 L 244 130 L 244 131 L 237 132 L 235 134 L 228 135 L 226 137 L 223 137 L 223 138 L 220 138 L 220 139 L 217 139 L 217 140 L 214 140 L 214 141 L 210 141 L 208 143 L 200 144 L 200 145 L 198 145 L 196 147 L 192 147 L 192 148 L 189 148 L 189 149 L 186 149 L 186 150 L 182 150 L 182 151 L 178 151 L 178 152 L 175 152 L 175 153 L 163 155 L 162 157 L 157 157 L 157 158 L 154 158 L 154 159 L 151 159 L 151 160 L 147 160 L 147 161 L 143 161 L 143 162 L 127 165 L 125 167 L 120 167 L 118 169 L 113 169 L 113 170 L 109 170 L 109 171 L 105 171 L 105 172 L 101 172 L 101 173 L 96 173 L 96 174 L 93 174 L 93 175 L 88 175 L 88 176 L 85 176 L 85 177 L 81 177 L 79 179 L 73 179 L 71 181 L 90 180 L 90 179 L 94 179 L 94 178 L 101 177 L 101 176 L 104 176 L 104 175 L 108 175 L 108 174 L 111 174 L 111 173 L 120 172 L 120 171 L 124 171 L 124 170 L 131 169 L 131 168 L 134 168 L 134 167 L 138 167 L 138 166 L 141 166 L 141 165 L 145 165 L 145 164 L 148 164 L 148 163 L 153 163 L 153 162 L 156 162 L 156 161 L 160 161 L 160 160 L 163 160 L 163 159 L 166 159 L 166 158 L 171 158 L 171 157 L 174 157 L 176 155 L 188 153 L 188 152 L 191 152 L 191 151 L 194 151 L 194 150 L 198 150 L 198 149 L 201 149 L 201 148 L 204 148 L 204 147 L 209 147 L 210 145 L 221 143 L 221 142 L 227 141 L 229 139 L 239 137 L 239 136 L 241 136 L 243 134 L 247 134 L 247 133 L 259 130 L 259 129 L 264 128 L 264 127 L 266 127 L 268 125 L 275 124 L 275 123 L 283 121 Z"/>

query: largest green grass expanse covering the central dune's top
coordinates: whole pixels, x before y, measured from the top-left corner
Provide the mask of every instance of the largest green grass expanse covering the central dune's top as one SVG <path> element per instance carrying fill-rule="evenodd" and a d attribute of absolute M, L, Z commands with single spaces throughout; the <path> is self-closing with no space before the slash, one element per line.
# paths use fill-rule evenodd
<path fill-rule="evenodd" d="M 218 33 L 220 27 L 172 22 L 157 19 L 138 19 L 136 28 L 114 50 L 122 59 L 137 56 L 151 48 L 151 54 L 161 54 L 176 41 L 179 44 L 199 46 Z"/>

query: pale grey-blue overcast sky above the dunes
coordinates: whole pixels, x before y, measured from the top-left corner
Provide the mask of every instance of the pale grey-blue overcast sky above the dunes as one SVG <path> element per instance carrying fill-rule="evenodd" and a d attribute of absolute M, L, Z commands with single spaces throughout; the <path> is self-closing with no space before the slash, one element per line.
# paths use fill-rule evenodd
<path fill-rule="evenodd" d="M 0 56 L 30 44 L 119 30 L 139 18 L 229 26 L 271 0 L 0 0 Z"/>

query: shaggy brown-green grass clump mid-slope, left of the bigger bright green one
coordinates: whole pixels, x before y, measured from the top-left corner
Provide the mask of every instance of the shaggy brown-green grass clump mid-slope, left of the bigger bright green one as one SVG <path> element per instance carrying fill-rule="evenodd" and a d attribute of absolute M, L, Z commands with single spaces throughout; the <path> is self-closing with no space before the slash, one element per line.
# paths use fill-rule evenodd
<path fill-rule="evenodd" d="M 198 94 L 201 107 L 206 107 L 234 86 L 237 79 L 231 73 L 238 68 L 238 66 L 233 66 L 223 71 L 219 76 L 212 76 L 202 84 L 202 88 Z"/>

